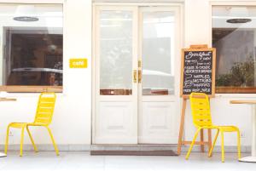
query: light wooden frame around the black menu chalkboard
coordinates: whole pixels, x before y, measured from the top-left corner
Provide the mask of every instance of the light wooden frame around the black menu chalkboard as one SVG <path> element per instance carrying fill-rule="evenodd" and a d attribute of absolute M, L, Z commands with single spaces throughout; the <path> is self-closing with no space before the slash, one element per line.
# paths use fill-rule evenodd
<path fill-rule="evenodd" d="M 207 45 L 191 45 L 190 48 L 182 49 L 182 58 L 181 58 L 181 87 L 180 87 L 180 96 L 188 99 L 189 94 L 183 94 L 183 78 L 184 78 L 184 58 L 185 52 L 200 52 L 200 51 L 211 51 L 212 52 L 212 93 L 208 94 L 209 98 L 215 96 L 215 70 L 216 70 L 216 48 L 207 48 Z"/>

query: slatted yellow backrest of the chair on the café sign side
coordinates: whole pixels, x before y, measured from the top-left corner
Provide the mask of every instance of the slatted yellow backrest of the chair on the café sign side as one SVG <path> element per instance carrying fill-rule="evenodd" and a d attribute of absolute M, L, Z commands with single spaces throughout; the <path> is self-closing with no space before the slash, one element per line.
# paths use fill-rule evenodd
<path fill-rule="evenodd" d="M 55 110 L 55 93 L 42 93 L 39 96 L 38 108 L 34 123 L 49 125 Z"/>

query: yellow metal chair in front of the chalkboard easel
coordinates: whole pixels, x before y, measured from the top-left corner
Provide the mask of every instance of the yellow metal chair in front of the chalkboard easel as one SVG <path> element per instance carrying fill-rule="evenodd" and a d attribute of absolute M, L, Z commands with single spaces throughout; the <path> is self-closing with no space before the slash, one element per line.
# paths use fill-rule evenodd
<path fill-rule="evenodd" d="M 192 117 L 193 117 L 193 123 L 195 127 L 197 128 L 194 139 L 189 147 L 189 151 L 187 153 L 186 159 L 189 159 L 189 154 L 192 150 L 193 145 L 195 144 L 195 139 L 197 137 L 197 134 L 201 131 L 203 128 L 210 128 L 210 129 L 217 129 L 217 134 L 215 135 L 215 138 L 213 140 L 212 148 L 208 153 L 208 156 L 212 156 L 212 150 L 214 148 L 214 145 L 216 143 L 216 140 L 218 138 L 218 133 L 221 134 L 221 154 L 222 154 L 222 162 L 224 162 L 224 132 L 236 132 L 237 133 L 237 153 L 238 158 L 241 157 L 241 150 L 240 150 L 240 132 L 239 128 L 235 126 L 215 126 L 212 125 L 212 117 L 211 117 L 211 111 L 210 111 L 210 104 L 208 100 L 207 94 L 202 93 L 192 93 L 189 95 L 190 105 L 191 105 L 191 111 L 192 111 Z"/>

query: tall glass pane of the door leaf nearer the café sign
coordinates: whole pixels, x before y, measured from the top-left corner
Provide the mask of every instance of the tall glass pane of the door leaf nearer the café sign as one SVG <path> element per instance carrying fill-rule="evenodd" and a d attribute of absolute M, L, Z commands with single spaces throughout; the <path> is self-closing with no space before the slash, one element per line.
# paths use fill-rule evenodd
<path fill-rule="evenodd" d="M 132 93 L 132 12 L 100 14 L 100 94 Z"/>

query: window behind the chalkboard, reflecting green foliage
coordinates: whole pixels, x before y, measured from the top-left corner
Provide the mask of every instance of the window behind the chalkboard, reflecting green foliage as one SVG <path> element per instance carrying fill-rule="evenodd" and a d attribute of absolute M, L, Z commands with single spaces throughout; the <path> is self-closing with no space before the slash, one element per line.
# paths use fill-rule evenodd
<path fill-rule="evenodd" d="M 214 6 L 216 92 L 256 93 L 256 7 Z"/>

